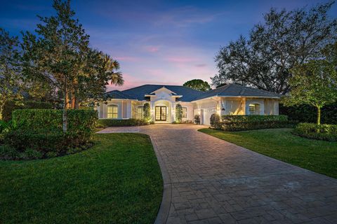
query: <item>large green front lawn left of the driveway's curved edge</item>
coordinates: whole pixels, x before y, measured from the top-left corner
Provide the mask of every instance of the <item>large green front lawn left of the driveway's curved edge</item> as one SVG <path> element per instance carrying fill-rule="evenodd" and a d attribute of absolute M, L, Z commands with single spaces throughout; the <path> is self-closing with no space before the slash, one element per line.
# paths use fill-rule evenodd
<path fill-rule="evenodd" d="M 0 161 L 0 223 L 153 223 L 161 172 L 145 134 L 95 134 L 60 158 Z"/>

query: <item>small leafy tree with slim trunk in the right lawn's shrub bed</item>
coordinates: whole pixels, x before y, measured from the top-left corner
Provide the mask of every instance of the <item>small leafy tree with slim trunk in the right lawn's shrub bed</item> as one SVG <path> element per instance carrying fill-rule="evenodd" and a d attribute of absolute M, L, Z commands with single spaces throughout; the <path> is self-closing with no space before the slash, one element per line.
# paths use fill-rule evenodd
<path fill-rule="evenodd" d="M 327 45 L 317 59 L 292 69 L 291 92 L 284 98 L 286 106 L 308 104 L 317 108 L 317 125 L 321 109 L 337 101 L 337 43 Z"/>

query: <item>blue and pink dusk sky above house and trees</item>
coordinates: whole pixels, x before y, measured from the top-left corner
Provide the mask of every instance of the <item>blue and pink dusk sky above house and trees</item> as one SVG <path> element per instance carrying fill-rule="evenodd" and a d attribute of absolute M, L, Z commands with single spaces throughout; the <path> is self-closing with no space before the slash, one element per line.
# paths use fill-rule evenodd
<path fill-rule="evenodd" d="M 108 85 L 107 90 L 125 90 L 143 84 L 183 85 L 194 78 L 211 83 L 220 47 L 247 36 L 271 7 L 292 10 L 325 2 L 73 0 L 71 6 L 91 36 L 91 47 L 121 64 L 124 85 Z M 55 14 L 51 0 L 0 3 L 0 27 L 13 36 L 34 32 L 37 15 Z M 337 15 L 337 3 L 329 14 Z"/>

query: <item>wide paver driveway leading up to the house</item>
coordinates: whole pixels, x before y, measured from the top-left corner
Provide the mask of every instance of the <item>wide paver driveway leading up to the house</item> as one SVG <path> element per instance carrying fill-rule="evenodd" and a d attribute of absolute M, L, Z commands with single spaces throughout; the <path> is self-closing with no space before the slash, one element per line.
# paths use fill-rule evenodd
<path fill-rule="evenodd" d="M 336 179 L 197 132 L 199 128 L 150 125 L 101 132 L 150 135 L 169 174 L 166 223 L 337 223 Z"/>

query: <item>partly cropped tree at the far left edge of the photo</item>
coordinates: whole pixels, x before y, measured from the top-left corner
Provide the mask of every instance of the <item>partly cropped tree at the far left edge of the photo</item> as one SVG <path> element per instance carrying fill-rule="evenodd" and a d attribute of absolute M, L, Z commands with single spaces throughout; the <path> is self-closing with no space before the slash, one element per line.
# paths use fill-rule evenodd
<path fill-rule="evenodd" d="M 18 37 L 0 27 L 0 120 L 7 102 L 22 99 L 20 94 L 20 58 Z"/>

